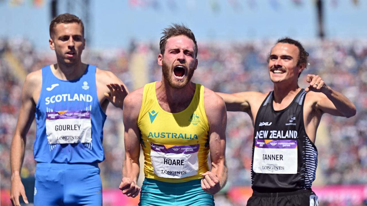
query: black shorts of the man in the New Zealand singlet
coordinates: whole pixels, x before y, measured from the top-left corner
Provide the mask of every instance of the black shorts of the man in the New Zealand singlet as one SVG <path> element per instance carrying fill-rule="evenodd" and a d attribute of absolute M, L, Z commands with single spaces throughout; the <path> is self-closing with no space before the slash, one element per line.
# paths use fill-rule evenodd
<path fill-rule="evenodd" d="M 318 206 L 319 201 L 312 190 L 294 192 L 260 193 L 253 192 L 247 206 Z"/>

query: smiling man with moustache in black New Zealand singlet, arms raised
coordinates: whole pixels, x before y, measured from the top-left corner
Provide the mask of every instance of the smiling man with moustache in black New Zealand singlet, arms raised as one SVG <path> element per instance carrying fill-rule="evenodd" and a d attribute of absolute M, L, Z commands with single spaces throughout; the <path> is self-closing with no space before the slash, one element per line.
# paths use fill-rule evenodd
<path fill-rule="evenodd" d="M 274 90 L 267 93 L 218 93 L 227 111 L 244 111 L 254 124 L 251 182 L 247 205 L 318 205 L 311 190 L 317 167 L 316 130 L 324 113 L 352 117 L 355 105 L 308 74 L 298 86 L 308 53 L 290 38 L 277 41 L 268 57 Z"/>

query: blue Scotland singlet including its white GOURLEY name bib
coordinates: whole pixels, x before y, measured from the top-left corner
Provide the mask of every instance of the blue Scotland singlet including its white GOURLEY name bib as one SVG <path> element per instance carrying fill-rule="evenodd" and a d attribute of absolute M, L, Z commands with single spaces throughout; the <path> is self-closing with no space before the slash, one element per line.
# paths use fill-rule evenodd
<path fill-rule="evenodd" d="M 76 80 L 60 80 L 42 68 L 36 105 L 34 159 L 46 163 L 92 163 L 105 159 L 102 139 L 106 114 L 97 97 L 96 66 Z"/>

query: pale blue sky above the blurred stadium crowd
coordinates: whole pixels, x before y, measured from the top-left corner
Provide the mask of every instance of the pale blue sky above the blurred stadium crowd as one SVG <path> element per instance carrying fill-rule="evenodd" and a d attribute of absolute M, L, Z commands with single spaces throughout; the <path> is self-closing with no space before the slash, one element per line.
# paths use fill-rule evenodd
<path fill-rule="evenodd" d="M 89 0 L 88 6 L 85 1 L 58 0 L 58 14 L 70 12 L 84 21 L 90 49 L 126 49 L 131 40 L 158 45 L 171 23 L 187 25 L 198 42 L 317 38 L 315 0 Z M 326 38 L 367 37 L 367 1 L 323 2 Z M 50 4 L 0 0 L 0 38 L 25 37 L 36 49 L 49 49 Z"/>

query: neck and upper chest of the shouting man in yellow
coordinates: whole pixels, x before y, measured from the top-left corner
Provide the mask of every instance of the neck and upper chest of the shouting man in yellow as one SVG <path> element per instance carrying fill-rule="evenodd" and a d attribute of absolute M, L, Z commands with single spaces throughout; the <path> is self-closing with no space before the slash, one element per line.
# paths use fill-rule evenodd
<path fill-rule="evenodd" d="M 195 94 L 196 85 L 189 82 L 181 89 L 170 87 L 165 80 L 156 83 L 157 100 L 167 112 L 177 113 L 185 110 Z"/>

